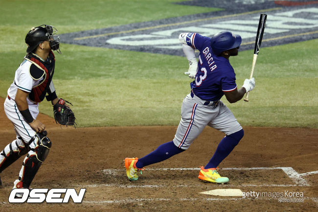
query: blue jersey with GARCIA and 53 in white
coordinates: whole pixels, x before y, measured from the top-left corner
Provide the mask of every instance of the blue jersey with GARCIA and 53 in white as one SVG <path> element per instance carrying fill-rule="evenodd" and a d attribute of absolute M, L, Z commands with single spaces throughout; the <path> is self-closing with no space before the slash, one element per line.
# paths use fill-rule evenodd
<path fill-rule="evenodd" d="M 188 46 L 200 51 L 198 70 L 195 80 L 190 83 L 193 93 L 205 101 L 217 101 L 224 92 L 237 89 L 235 72 L 229 61 L 214 55 L 211 38 L 198 33 L 188 33 L 186 43 Z"/>

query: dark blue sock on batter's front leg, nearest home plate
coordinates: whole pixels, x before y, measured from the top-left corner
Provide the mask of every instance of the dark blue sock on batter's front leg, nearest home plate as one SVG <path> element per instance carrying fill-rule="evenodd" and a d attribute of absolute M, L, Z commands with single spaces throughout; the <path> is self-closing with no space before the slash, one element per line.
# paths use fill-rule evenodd
<path fill-rule="evenodd" d="M 244 130 L 224 137 L 218 145 L 213 157 L 204 168 L 216 168 L 243 138 Z"/>

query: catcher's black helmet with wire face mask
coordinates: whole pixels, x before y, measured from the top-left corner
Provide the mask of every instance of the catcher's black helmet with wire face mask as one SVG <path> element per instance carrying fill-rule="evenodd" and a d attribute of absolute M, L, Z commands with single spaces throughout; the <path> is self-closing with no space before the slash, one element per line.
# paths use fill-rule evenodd
<path fill-rule="evenodd" d="M 30 53 L 36 49 L 43 41 L 49 41 L 52 50 L 56 50 L 61 54 L 60 36 L 55 35 L 57 33 L 56 28 L 51 25 L 41 25 L 32 27 L 31 30 L 25 36 L 25 43 L 27 44 L 26 52 Z"/>

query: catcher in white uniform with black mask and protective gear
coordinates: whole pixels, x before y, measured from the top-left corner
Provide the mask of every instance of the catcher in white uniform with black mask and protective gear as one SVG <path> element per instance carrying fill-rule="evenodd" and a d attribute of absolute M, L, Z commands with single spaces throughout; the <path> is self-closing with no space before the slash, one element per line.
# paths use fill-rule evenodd
<path fill-rule="evenodd" d="M 36 119 L 39 102 L 46 97 L 54 106 L 64 104 L 52 82 L 55 67 L 52 50 L 61 53 L 60 37 L 56 33 L 51 25 L 33 27 L 27 33 L 27 53 L 4 101 L 4 112 L 13 123 L 17 137 L 0 152 L 0 173 L 27 153 L 13 188 L 29 188 L 52 145 L 46 137 L 45 125 Z"/>

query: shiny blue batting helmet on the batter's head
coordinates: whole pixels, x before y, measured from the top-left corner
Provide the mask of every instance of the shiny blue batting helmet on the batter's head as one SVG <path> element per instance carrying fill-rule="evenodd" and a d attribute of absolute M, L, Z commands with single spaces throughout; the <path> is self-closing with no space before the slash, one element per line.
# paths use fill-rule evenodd
<path fill-rule="evenodd" d="M 233 34 L 230 31 L 216 33 L 211 38 L 211 47 L 216 55 L 231 48 L 240 47 L 242 38 L 240 35 Z"/>

